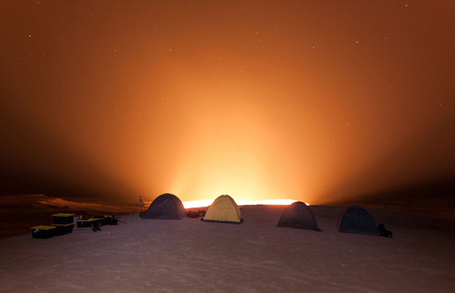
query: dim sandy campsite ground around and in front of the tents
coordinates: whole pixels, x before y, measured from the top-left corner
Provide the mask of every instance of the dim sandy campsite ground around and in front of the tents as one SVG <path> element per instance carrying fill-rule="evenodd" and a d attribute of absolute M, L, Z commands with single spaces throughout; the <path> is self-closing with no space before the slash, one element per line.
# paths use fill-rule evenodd
<path fill-rule="evenodd" d="M 276 227 L 285 207 L 242 207 L 242 225 L 142 220 L 49 239 L 0 239 L 2 292 L 450 292 L 453 223 L 371 209 L 392 238 L 339 233 L 342 207 L 311 207 L 322 232 Z"/>

